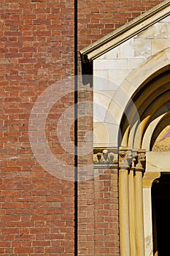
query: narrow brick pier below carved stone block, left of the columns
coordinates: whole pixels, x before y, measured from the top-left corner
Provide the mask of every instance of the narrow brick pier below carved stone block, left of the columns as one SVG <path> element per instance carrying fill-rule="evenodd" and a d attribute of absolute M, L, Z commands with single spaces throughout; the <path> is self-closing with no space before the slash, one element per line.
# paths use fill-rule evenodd
<path fill-rule="evenodd" d="M 95 255 L 120 255 L 117 170 L 98 169 L 94 181 Z"/>

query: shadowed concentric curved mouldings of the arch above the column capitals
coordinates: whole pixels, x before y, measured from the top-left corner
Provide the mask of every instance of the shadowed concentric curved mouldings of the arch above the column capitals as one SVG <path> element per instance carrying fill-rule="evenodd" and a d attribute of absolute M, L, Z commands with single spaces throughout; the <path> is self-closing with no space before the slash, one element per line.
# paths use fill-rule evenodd
<path fill-rule="evenodd" d="M 119 145 L 141 148 L 144 133 L 158 116 L 169 112 L 170 71 L 140 86 L 125 108 L 120 123 Z"/>

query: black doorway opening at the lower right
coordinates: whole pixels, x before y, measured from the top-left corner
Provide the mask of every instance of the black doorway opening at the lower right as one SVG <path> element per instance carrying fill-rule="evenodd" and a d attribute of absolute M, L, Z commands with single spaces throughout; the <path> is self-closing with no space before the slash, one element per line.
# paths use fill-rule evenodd
<path fill-rule="evenodd" d="M 152 228 L 153 255 L 169 255 L 170 173 L 161 173 L 152 184 Z"/>

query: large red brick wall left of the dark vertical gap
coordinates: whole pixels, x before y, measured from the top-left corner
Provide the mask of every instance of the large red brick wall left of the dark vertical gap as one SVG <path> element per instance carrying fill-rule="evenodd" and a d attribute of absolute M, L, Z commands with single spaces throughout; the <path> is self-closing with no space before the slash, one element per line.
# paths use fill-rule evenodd
<path fill-rule="evenodd" d="M 0 26 L 0 253 L 74 255 L 74 182 L 43 170 L 28 138 L 37 97 L 74 74 L 74 1 L 2 0 Z M 65 95 L 47 118 L 49 144 L 72 172 L 55 129 L 73 102 Z"/>

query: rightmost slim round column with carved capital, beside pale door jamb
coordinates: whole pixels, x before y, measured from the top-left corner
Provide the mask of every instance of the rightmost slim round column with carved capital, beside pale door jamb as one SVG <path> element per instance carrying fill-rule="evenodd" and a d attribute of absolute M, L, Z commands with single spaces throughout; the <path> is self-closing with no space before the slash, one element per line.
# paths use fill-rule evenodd
<path fill-rule="evenodd" d="M 136 226 L 136 249 L 137 256 L 144 256 L 144 214 L 143 214 L 143 190 L 142 176 L 144 173 L 145 153 L 138 152 L 138 159 L 134 176 L 135 196 L 135 226 Z M 143 165 L 142 165 L 143 164 Z"/>

